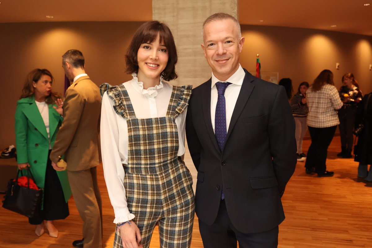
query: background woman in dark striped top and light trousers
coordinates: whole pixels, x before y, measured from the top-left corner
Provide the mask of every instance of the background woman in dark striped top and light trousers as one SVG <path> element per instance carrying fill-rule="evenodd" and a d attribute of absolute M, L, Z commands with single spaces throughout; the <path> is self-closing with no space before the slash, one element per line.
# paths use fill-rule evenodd
<path fill-rule="evenodd" d="M 306 154 L 302 152 L 302 141 L 307 131 L 307 114 L 309 107 L 306 103 L 306 90 L 309 88 L 308 82 L 302 82 L 298 86 L 297 93 L 291 99 L 292 114 L 296 123 L 296 143 L 297 143 L 297 161 L 304 161 Z"/>

